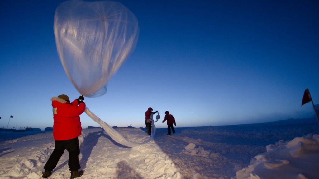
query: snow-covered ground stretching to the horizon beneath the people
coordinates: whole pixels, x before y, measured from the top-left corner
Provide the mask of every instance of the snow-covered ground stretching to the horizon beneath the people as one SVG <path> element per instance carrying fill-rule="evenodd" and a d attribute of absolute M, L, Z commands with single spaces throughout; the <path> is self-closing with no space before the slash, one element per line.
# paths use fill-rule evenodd
<path fill-rule="evenodd" d="M 156 123 L 155 123 L 156 125 Z M 154 140 L 125 147 L 102 128 L 83 129 L 82 179 L 226 179 L 319 176 L 319 125 L 315 118 L 263 124 L 157 129 Z M 149 138 L 145 128 L 116 128 L 127 140 Z M 0 178 L 41 178 L 54 149 L 52 132 L 0 131 Z M 28 133 L 31 134 L 31 133 Z M 65 151 L 49 178 L 70 178 Z"/>

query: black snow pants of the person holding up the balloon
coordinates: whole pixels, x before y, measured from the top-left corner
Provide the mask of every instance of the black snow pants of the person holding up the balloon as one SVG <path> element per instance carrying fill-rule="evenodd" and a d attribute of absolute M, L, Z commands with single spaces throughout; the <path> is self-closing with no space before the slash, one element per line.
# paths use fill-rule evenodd
<path fill-rule="evenodd" d="M 49 157 L 49 160 L 44 165 L 45 170 L 52 171 L 56 168 L 58 161 L 60 160 L 64 150 L 69 152 L 69 168 L 71 171 L 78 171 L 81 168 L 79 164 L 79 140 L 78 137 L 69 140 L 56 140 L 54 150 Z"/>

